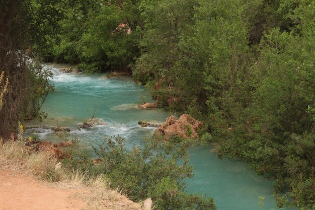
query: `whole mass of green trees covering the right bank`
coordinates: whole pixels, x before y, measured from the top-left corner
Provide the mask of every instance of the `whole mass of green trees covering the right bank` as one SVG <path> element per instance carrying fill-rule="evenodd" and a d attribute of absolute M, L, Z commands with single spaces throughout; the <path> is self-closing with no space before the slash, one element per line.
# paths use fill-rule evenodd
<path fill-rule="evenodd" d="M 172 11 L 175 1 L 159 19 L 160 3 L 143 13 L 135 80 L 161 106 L 203 119 L 219 156 L 241 157 L 276 178 L 279 206 L 311 209 L 314 2 L 200 0 Z"/>

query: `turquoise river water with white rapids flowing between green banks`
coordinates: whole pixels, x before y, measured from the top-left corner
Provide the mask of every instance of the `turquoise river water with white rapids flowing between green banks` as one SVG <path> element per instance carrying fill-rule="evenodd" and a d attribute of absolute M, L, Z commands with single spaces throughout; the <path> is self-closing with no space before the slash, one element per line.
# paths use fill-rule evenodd
<path fill-rule="evenodd" d="M 141 145 L 143 137 L 150 136 L 154 128 L 143 128 L 137 122 L 163 122 L 171 114 L 162 109 L 137 108 L 144 88 L 134 84 L 131 78 L 60 74 L 57 68 L 52 68 L 52 72 L 55 91 L 48 95 L 43 105 L 43 110 L 48 113 L 43 123 L 71 127 L 70 135 L 77 136 L 87 147 L 102 143 L 104 135 L 117 134 L 126 137 L 128 148 Z M 77 123 L 91 118 L 94 111 L 95 116 L 107 124 L 77 129 Z M 58 136 L 49 130 L 37 135 L 41 139 L 58 140 Z M 210 152 L 212 148 L 209 145 L 189 149 L 195 176 L 186 180 L 188 192 L 208 194 L 215 199 L 218 210 L 259 210 L 259 196 L 265 196 L 265 210 L 278 209 L 272 197 L 272 181 L 255 175 L 241 160 L 218 159 Z"/>

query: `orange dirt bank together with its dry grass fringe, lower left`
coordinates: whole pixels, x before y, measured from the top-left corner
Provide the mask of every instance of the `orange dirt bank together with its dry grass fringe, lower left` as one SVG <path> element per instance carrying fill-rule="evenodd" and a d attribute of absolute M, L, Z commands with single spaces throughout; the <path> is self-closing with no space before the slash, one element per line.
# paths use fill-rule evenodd
<path fill-rule="evenodd" d="M 47 152 L 22 142 L 0 141 L 0 209 L 141 209 L 108 186 L 105 176 L 88 178 L 66 169 Z M 56 202 L 57 201 L 57 202 Z"/>

